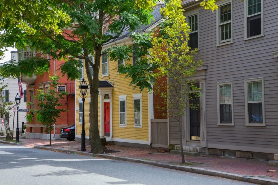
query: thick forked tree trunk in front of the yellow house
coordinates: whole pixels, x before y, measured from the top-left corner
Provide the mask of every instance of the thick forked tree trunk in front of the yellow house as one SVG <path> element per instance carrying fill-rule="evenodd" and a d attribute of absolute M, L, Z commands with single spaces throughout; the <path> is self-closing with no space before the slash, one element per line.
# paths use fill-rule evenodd
<path fill-rule="evenodd" d="M 101 153 L 104 149 L 107 149 L 102 145 L 100 140 L 100 134 L 98 130 L 98 84 L 99 84 L 99 68 L 100 68 L 100 54 L 95 54 L 95 65 L 93 67 L 93 78 L 89 72 L 89 64 L 85 61 L 85 67 L 87 71 L 87 77 L 90 85 L 90 97 L 91 97 L 91 115 L 90 115 L 90 131 L 89 141 L 91 145 L 92 153 Z"/>

